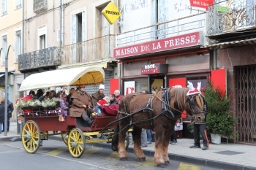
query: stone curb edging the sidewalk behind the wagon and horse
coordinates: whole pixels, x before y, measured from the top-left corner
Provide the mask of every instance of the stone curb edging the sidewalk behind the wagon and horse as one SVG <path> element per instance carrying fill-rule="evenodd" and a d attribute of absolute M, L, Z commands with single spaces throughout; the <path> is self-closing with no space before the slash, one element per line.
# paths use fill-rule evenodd
<path fill-rule="evenodd" d="M 20 136 L 0 138 L 0 142 L 10 140 L 13 137 L 20 137 Z M 57 140 L 57 141 L 61 141 L 61 142 L 63 141 L 61 136 L 49 136 L 48 139 L 53 139 L 53 140 Z M 103 147 L 103 148 L 109 147 L 109 149 L 111 150 L 110 144 L 107 144 L 107 143 L 94 143 L 94 146 Z M 127 152 L 133 153 L 133 148 L 128 147 Z M 148 157 L 154 157 L 154 151 L 152 151 L 152 150 L 143 149 L 143 152 Z M 222 161 L 213 161 L 213 160 L 208 160 L 208 159 L 201 159 L 201 158 L 177 155 L 177 154 L 172 154 L 172 153 L 168 153 L 168 156 L 169 156 L 170 160 L 173 160 L 173 161 L 181 161 L 181 162 L 186 162 L 186 163 L 191 163 L 191 164 L 197 164 L 199 166 L 208 166 L 208 167 L 216 168 L 216 169 L 256 170 L 256 167 L 243 166 L 243 165 L 239 165 L 239 164 L 235 164 L 235 163 L 225 163 Z"/>

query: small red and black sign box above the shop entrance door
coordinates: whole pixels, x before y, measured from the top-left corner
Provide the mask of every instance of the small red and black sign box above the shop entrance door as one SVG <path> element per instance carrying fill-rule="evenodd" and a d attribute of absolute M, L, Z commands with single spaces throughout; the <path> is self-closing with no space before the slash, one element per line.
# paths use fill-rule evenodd
<path fill-rule="evenodd" d="M 141 74 L 167 74 L 168 64 L 152 63 L 141 66 Z"/>

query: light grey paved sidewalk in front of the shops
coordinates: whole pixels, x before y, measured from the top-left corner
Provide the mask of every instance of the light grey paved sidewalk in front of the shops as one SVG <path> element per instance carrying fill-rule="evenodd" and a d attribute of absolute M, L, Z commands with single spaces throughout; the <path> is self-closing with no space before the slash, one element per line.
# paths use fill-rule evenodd
<path fill-rule="evenodd" d="M 0 134 L 0 141 L 2 139 L 9 140 L 13 137 L 20 137 L 17 134 L 16 122 L 10 123 L 10 131 L 7 133 L 7 136 L 4 136 L 4 132 Z M 61 136 L 55 136 L 55 138 L 62 141 Z M 256 146 L 222 143 L 210 144 L 209 150 L 190 149 L 189 146 L 193 143 L 193 139 L 178 139 L 178 144 L 170 144 L 168 147 L 170 160 L 210 166 L 217 169 L 256 170 Z M 94 144 L 97 147 L 106 147 L 106 145 L 110 144 Z M 129 145 L 127 152 L 133 152 L 132 144 Z M 148 147 L 143 147 L 143 152 L 146 156 L 153 157 L 154 143 L 148 144 Z"/>

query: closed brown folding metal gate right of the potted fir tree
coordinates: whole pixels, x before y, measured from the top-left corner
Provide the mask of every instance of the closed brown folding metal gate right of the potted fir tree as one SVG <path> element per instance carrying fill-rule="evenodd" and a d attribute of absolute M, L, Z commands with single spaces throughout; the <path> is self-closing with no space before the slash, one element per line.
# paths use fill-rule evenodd
<path fill-rule="evenodd" d="M 238 142 L 256 143 L 256 66 L 237 66 L 236 116 Z"/>

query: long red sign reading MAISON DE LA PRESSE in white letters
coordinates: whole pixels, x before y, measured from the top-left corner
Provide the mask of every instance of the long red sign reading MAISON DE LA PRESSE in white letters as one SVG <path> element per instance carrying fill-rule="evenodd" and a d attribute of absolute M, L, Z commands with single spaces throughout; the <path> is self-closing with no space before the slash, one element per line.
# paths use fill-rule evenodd
<path fill-rule="evenodd" d="M 125 58 L 134 55 L 155 53 L 165 50 L 174 50 L 183 47 L 192 47 L 203 45 L 202 32 L 184 34 L 181 36 L 172 36 L 165 39 L 144 42 L 138 45 L 118 47 L 114 49 L 114 58 Z"/>

